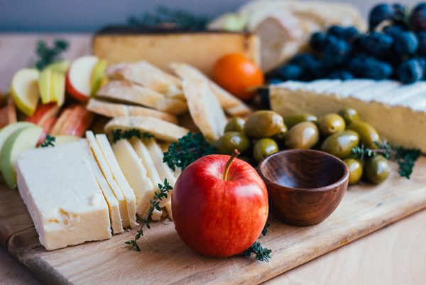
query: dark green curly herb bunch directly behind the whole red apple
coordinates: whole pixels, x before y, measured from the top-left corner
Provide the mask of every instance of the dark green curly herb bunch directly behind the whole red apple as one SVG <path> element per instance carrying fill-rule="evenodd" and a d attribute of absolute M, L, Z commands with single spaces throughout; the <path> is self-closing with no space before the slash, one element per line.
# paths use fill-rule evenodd
<path fill-rule="evenodd" d="M 175 171 L 176 167 L 185 169 L 188 165 L 200 157 L 206 155 L 214 155 L 216 150 L 207 143 L 202 134 L 188 133 L 168 147 L 168 151 L 164 152 L 163 162 Z"/>

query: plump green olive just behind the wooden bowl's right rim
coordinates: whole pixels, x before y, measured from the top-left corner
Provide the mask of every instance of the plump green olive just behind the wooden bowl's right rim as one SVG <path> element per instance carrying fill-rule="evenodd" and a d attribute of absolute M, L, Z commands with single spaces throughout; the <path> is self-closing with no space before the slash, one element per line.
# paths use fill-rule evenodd
<path fill-rule="evenodd" d="M 321 150 L 339 158 L 347 157 L 359 143 L 359 135 L 353 130 L 334 133 L 324 140 Z"/>

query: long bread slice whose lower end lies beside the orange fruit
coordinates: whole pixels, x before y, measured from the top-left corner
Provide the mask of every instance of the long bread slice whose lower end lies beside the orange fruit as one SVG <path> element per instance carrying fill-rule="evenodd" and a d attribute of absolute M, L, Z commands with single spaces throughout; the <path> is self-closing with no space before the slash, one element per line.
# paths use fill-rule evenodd
<path fill-rule="evenodd" d="M 246 115 L 247 113 L 251 113 L 251 109 L 246 106 L 243 101 L 214 83 L 195 67 L 182 62 L 172 62 L 170 63 L 170 68 L 173 69 L 175 74 L 178 75 L 178 77 L 180 77 L 182 80 L 189 79 L 206 82 L 212 89 L 213 93 L 217 96 L 221 106 L 225 109 L 226 113 L 229 113 L 229 115 L 242 116 Z M 237 106 L 239 108 L 236 108 Z"/>

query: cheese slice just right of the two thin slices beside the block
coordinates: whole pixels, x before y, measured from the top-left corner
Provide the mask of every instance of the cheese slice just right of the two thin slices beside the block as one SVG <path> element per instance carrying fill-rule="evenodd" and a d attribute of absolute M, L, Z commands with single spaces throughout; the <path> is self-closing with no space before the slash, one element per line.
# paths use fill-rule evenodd
<path fill-rule="evenodd" d="M 153 182 L 148 178 L 141 158 L 138 157 L 128 140 L 119 140 L 111 147 L 124 177 L 129 181 L 136 196 L 136 214 L 141 216 L 148 206 L 149 198 L 153 193 Z"/>

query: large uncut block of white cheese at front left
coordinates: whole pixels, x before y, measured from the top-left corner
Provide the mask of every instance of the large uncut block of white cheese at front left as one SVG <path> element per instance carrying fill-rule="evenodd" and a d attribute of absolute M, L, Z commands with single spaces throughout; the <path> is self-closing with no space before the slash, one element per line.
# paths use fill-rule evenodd
<path fill-rule="evenodd" d="M 111 238 L 108 205 L 79 142 L 21 152 L 16 172 L 46 250 Z"/>

